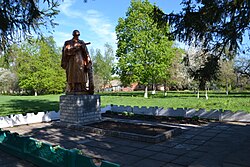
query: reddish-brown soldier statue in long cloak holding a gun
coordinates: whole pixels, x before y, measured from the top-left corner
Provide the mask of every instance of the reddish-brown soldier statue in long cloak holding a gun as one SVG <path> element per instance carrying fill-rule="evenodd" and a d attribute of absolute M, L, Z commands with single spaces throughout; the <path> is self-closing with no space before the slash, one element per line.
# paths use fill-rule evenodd
<path fill-rule="evenodd" d="M 88 44 L 79 39 L 80 32 L 74 30 L 73 38 L 64 43 L 61 66 L 66 70 L 67 94 L 93 94 L 92 62 Z M 87 87 L 88 83 L 88 87 Z"/>

